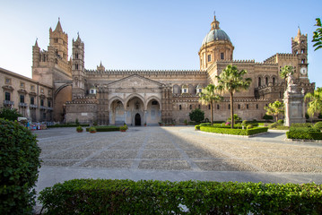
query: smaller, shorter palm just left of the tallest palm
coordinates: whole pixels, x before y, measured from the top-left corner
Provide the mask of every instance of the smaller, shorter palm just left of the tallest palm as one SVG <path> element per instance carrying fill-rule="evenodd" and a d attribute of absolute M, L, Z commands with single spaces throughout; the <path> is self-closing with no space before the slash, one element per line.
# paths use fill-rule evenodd
<path fill-rule="evenodd" d="M 213 125 L 213 103 L 217 101 L 222 101 L 222 97 L 215 93 L 216 87 L 213 84 L 209 84 L 203 88 L 200 93 L 199 102 L 203 105 L 210 105 L 210 120 Z"/>

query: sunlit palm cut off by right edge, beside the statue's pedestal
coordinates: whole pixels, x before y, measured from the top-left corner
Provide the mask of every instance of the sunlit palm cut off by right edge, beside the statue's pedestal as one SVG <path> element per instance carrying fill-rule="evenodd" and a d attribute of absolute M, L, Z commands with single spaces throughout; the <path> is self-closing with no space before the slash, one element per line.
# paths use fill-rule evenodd
<path fill-rule="evenodd" d="M 309 92 L 305 95 L 304 99 L 309 101 L 308 113 L 313 118 L 314 114 L 322 112 L 322 88 Z"/>

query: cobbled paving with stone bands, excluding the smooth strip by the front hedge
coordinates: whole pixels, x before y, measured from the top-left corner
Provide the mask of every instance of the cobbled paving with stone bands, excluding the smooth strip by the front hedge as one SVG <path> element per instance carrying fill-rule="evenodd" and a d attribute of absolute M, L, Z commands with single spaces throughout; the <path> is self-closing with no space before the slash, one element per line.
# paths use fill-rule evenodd
<path fill-rule="evenodd" d="M 241 138 L 192 126 L 147 126 L 126 133 L 35 133 L 45 167 L 322 173 L 322 144 L 284 142 L 283 132 Z"/>

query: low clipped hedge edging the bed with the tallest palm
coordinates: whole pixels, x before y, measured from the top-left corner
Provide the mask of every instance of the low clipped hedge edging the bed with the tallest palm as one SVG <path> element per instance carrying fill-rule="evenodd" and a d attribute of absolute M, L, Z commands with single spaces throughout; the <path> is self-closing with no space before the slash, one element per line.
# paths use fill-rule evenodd
<path fill-rule="evenodd" d="M 255 127 L 251 129 L 231 129 L 231 128 L 221 128 L 215 126 L 200 126 L 200 131 L 209 133 L 226 133 L 234 135 L 253 135 L 256 133 L 267 132 L 268 127 Z"/>

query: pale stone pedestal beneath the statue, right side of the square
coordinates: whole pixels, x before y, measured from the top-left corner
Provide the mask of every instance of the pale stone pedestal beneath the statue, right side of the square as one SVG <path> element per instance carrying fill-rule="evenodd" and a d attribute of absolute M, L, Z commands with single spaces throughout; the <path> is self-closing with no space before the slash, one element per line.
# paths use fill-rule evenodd
<path fill-rule="evenodd" d="M 295 84 L 288 86 L 284 93 L 285 118 L 284 125 L 305 123 L 304 92 Z"/>

